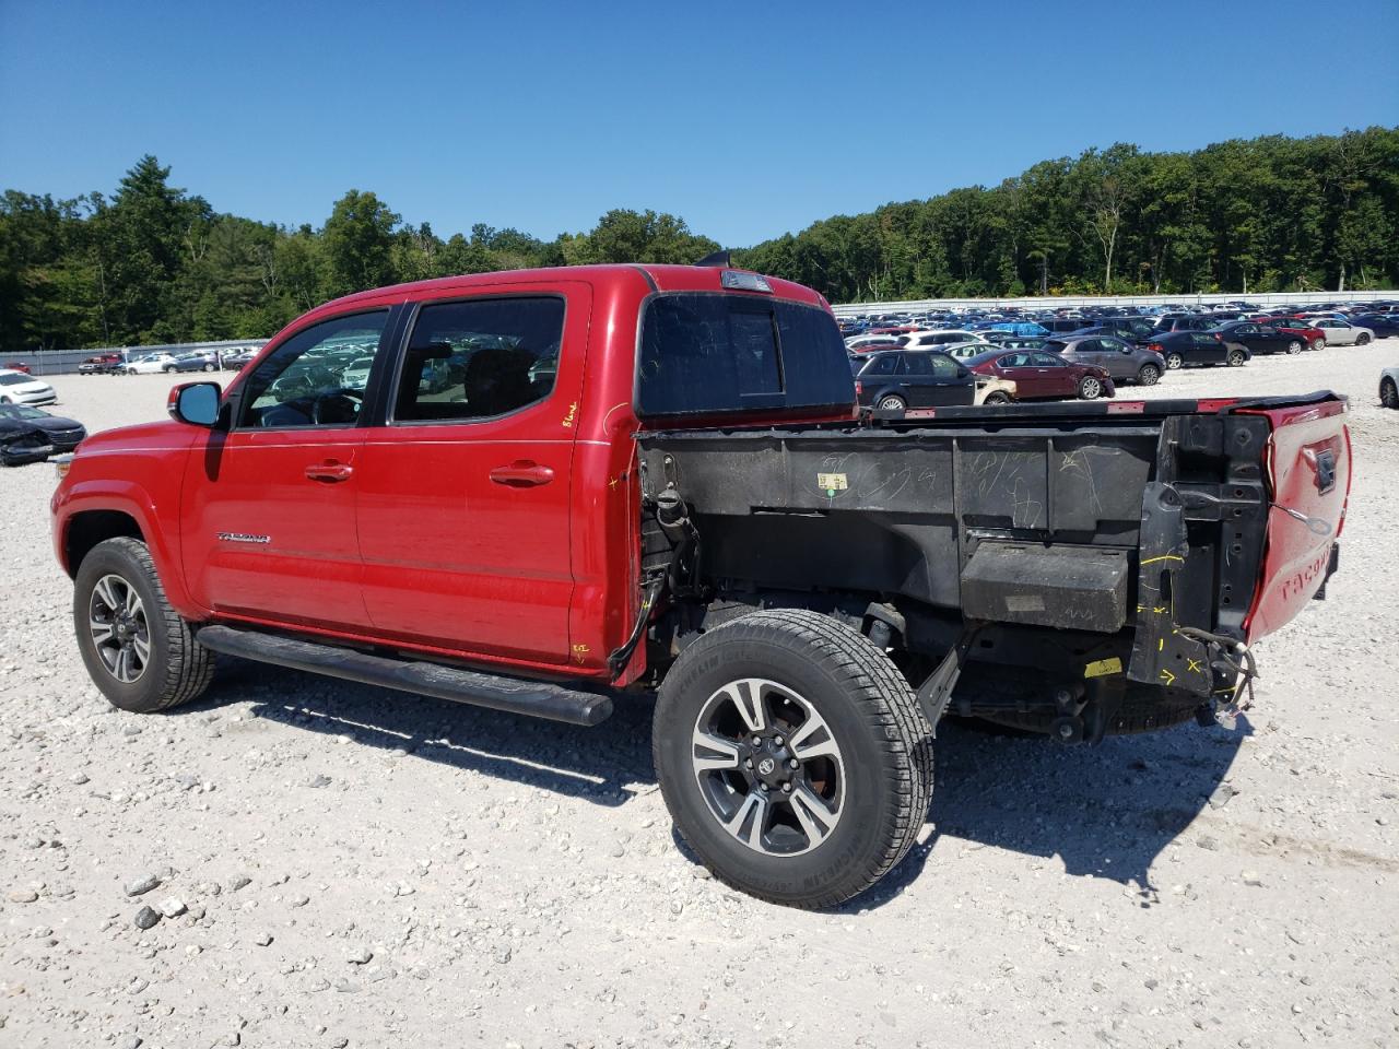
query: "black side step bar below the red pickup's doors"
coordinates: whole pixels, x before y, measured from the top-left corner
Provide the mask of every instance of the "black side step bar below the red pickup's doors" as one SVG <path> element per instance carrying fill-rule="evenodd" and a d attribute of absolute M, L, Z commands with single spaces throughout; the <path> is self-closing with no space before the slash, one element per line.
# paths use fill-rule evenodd
<path fill-rule="evenodd" d="M 388 656 L 320 645 L 313 641 L 283 638 L 276 634 L 235 629 L 234 627 L 204 627 L 196 641 L 211 652 L 242 656 L 259 663 L 274 663 L 312 674 L 340 677 L 381 688 L 420 692 L 459 704 L 490 706 L 492 711 L 527 713 L 569 725 L 595 726 L 611 718 L 611 697 L 579 692 L 547 681 L 526 681 L 516 677 L 481 674 L 438 663 L 410 662 Z"/>

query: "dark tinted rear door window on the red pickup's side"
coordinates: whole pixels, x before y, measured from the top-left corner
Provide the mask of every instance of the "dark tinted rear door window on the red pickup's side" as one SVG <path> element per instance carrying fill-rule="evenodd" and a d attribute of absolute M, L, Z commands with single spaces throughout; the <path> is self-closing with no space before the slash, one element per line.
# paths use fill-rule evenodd
<path fill-rule="evenodd" d="M 494 418 L 554 390 L 564 299 L 436 302 L 413 324 L 393 421 Z"/>

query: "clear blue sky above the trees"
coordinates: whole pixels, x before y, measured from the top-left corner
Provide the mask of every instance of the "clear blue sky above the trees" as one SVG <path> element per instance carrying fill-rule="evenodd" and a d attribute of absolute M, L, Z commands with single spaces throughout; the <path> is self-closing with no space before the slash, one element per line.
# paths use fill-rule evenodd
<path fill-rule="evenodd" d="M 655 208 L 727 246 L 1135 141 L 1399 123 L 1399 3 L 0 0 L 0 187 L 143 152 L 218 211 L 441 235 Z"/>

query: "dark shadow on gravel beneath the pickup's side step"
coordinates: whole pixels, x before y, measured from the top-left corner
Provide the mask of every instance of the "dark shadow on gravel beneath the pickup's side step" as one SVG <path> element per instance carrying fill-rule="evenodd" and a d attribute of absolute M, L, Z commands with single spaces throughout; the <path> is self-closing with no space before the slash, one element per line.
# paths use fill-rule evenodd
<path fill-rule="evenodd" d="M 404 750 L 404 761 L 474 769 L 602 806 L 625 804 L 638 785 L 656 782 L 651 702 L 637 697 L 617 697 L 611 718 L 583 729 L 221 659 L 208 695 L 180 712 L 197 715 L 238 699 L 252 701 L 252 713 L 266 722 L 348 736 L 365 747 Z"/>

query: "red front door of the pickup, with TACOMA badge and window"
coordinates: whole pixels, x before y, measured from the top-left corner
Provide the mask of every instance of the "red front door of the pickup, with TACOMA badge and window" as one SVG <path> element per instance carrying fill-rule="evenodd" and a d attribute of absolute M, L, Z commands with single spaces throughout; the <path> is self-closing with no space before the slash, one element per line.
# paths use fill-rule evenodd
<path fill-rule="evenodd" d="M 379 352 L 389 311 L 312 324 L 238 387 L 228 432 L 186 463 L 182 558 L 194 599 L 227 615 L 368 627 L 355 536 L 364 397 L 333 361 Z"/>

